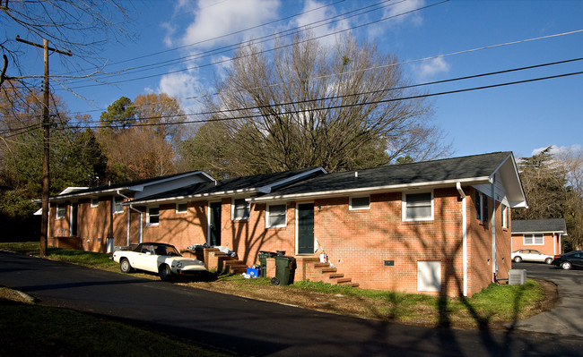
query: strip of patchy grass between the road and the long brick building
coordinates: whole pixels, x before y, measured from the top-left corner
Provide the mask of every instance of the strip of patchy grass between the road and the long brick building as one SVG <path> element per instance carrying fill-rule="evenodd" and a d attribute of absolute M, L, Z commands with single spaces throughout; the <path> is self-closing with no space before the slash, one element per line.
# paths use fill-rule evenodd
<path fill-rule="evenodd" d="M 38 255 L 39 243 L 0 243 L 0 249 Z M 109 254 L 57 248 L 50 248 L 48 253 L 49 259 L 119 271 Z M 135 275 L 158 279 L 151 274 Z M 203 280 L 183 279 L 176 284 L 306 309 L 431 327 L 501 328 L 506 322 L 526 319 L 548 310 L 556 299 L 554 285 L 532 279 L 528 279 L 526 285 L 490 285 L 471 298 L 391 293 L 309 281 L 272 286 L 265 278 L 245 279 L 229 275 L 209 274 Z"/>

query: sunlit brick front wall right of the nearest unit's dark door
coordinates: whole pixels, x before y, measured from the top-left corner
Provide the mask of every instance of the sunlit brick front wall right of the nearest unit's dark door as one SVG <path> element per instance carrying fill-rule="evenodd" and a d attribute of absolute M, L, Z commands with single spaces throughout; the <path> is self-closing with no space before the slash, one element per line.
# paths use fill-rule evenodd
<path fill-rule="evenodd" d="M 434 219 L 404 222 L 402 193 L 370 197 L 370 209 L 348 198 L 316 200 L 315 234 L 336 268 L 363 288 L 417 293 L 417 262 L 441 261 L 441 293 L 462 290 L 462 207 L 457 190 L 435 190 Z M 393 267 L 384 267 L 393 260 Z"/>

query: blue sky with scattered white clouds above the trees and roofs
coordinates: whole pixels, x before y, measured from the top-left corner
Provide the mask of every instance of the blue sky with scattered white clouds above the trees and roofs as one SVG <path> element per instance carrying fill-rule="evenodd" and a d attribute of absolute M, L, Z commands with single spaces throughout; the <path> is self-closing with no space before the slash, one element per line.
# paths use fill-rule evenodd
<path fill-rule="evenodd" d="M 98 120 L 125 96 L 167 93 L 187 113 L 201 110 L 231 65 L 233 45 L 283 30 L 309 27 L 320 41 L 350 34 L 396 55 L 411 83 L 446 81 L 583 57 L 583 1 L 471 0 L 149 0 L 124 1 L 137 38 L 110 40 L 101 77 L 109 85 L 76 81 L 81 99 L 54 88 L 69 109 Z M 333 22 L 330 22 L 333 19 Z M 273 43 L 266 41 L 266 48 Z M 189 57 L 187 57 L 189 56 Z M 185 58 L 186 57 L 186 58 Z M 36 61 L 36 62 L 34 62 Z M 51 73 L 65 71 L 51 60 Z M 38 64 L 37 64 L 38 63 Z M 42 57 L 30 68 L 42 71 Z M 422 86 L 433 123 L 451 142 L 453 156 L 513 151 L 530 157 L 583 144 L 583 60 Z M 559 78 L 530 81 L 544 77 Z M 512 85 L 501 84 L 529 81 Z"/>

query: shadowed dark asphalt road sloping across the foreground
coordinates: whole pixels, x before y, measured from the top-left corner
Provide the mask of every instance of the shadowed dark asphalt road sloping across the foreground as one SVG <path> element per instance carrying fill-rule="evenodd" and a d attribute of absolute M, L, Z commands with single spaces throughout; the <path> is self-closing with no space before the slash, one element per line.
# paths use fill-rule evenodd
<path fill-rule="evenodd" d="M 256 356 L 580 356 L 583 338 L 355 319 L 0 252 L 0 285 Z M 177 351 L 179 353 L 179 351 Z"/>

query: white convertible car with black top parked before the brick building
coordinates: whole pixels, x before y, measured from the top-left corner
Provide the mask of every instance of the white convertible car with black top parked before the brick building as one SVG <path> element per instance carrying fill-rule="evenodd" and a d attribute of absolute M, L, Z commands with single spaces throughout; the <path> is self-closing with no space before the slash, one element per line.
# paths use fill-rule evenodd
<path fill-rule="evenodd" d="M 183 257 L 166 243 L 140 243 L 134 251 L 114 251 L 112 259 L 124 273 L 146 270 L 158 273 L 162 280 L 206 270 L 202 261 Z"/>

